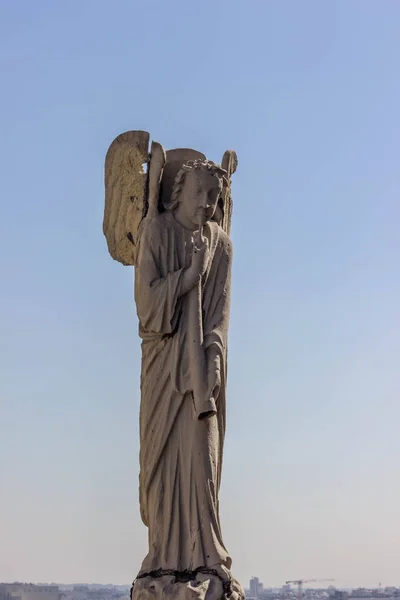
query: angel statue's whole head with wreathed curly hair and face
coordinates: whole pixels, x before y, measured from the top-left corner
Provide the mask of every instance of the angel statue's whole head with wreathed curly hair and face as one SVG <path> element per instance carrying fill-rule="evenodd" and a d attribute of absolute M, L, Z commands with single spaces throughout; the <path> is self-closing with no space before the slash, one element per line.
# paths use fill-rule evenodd
<path fill-rule="evenodd" d="M 166 210 L 175 211 L 178 220 L 189 229 L 198 229 L 216 213 L 218 200 L 227 175 L 210 160 L 191 160 L 175 177 L 171 200 Z"/>

